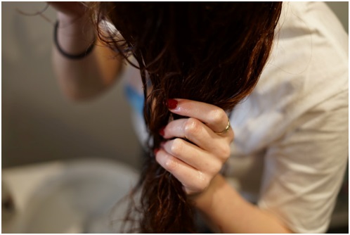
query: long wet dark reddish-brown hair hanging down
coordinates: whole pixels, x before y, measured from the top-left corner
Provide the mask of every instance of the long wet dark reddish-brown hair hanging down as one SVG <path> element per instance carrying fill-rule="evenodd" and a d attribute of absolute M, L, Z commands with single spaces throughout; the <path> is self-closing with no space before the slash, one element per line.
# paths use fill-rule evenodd
<path fill-rule="evenodd" d="M 140 69 L 148 127 L 148 157 L 131 196 L 131 215 L 141 215 L 141 233 L 192 233 L 193 203 L 181 182 L 164 170 L 153 151 L 164 141 L 160 129 L 171 115 L 168 99 L 211 103 L 232 110 L 249 95 L 266 64 L 280 2 L 98 2 L 91 4 L 100 37 Z M 115 25 L 123 39 L 100 25 Z M 129 61 L 132 63 L 131 61 Z"/>

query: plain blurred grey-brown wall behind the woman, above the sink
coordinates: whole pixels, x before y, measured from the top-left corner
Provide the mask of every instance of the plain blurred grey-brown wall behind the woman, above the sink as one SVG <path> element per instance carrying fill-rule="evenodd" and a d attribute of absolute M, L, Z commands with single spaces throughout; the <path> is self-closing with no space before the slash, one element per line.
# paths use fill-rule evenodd
<path fill-rule="evenodd" d="M 348 31 L 348 2 L 330 2 Z M 2 167 L 44 160 L 115 158 L 138 167 L 141 147 L 122 86 L 89 103 L 65 99 L 51 69 L 56 13 L 43 2 L 2 2 Z"/>

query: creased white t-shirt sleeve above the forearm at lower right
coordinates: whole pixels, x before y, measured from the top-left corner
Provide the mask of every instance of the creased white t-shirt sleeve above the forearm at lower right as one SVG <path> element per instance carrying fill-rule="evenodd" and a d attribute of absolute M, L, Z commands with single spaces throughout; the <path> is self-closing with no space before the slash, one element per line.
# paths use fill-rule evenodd
<path fill-rule="evenodd" d="M 259 208 L 297 233 L 327 230 L 349 147 L 349 92 L 304 113 L 266 151 Z"/>

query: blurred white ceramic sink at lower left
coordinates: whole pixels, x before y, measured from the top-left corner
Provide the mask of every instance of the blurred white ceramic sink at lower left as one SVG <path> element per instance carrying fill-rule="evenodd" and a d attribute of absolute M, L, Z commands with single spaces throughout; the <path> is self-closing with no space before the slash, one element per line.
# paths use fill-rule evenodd
<path fill-rule="evenodd" d="M 114 208 L 138 174 L 112 160 L 82 159 L 6 169 L 13 198 L 4 233 L 117 233 L 126 203 Z"/>

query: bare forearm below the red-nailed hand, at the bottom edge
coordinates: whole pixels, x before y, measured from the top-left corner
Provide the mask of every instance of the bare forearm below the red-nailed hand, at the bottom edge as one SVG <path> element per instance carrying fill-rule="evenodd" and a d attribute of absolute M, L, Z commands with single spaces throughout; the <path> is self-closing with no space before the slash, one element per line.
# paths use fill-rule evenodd
<path fill-rule="evenodd" d="M 222 233 L 292 232 L 273 215 L 245 201 L 221 174 L 217 174 L 207 191 L 194 201 L 214 229 Z"/>

